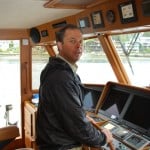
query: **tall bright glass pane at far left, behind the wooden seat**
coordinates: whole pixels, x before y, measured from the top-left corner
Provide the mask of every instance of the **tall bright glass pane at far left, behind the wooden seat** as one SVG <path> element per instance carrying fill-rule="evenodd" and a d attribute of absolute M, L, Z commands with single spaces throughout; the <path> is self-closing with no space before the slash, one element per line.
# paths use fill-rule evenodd
<path fill-rule="evenodd" d="M 21 127 L 19 45 L 18 40 L 0 41 L 0 127 Z"/>

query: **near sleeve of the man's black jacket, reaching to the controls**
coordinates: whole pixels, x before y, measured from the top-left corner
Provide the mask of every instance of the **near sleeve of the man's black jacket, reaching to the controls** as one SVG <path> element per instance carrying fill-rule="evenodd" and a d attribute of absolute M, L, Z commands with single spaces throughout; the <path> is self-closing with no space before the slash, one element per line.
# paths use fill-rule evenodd
<path fill-rule="evenodd" d="M 66 81 L 60 82 L 54 88 L 53 91 L 57 91 L 54 106 L 57 107 L 57 117 L 65 132 L 82 144 L 91 147 L 104 145 L 105 135 L 93 127 L 82 109 L 82 92 L 79 85 L 73 81 Z"/>

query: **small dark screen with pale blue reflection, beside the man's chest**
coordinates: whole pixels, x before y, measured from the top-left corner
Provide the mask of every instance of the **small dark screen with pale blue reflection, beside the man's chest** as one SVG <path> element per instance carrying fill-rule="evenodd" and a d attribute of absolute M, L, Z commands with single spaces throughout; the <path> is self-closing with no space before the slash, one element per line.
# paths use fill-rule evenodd
<path fill-rule="evenodd" d="M 100 98 L 101 91 L 98 89 L 90 89 L 83 100 L 83 108 L 87 111 L 94 111 Z"/>

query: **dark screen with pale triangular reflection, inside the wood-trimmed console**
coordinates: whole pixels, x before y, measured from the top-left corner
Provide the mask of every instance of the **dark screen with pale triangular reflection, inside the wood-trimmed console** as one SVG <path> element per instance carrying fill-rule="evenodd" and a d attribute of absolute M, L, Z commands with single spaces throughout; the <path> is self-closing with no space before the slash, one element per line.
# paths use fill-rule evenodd
<path fill-rule="evenodd" d="M 130 96 L 130 93 L 111 87 L 105 96 L 104 103 L 101 106 L 100 113 L 111 118 L 118 119 Z"/>

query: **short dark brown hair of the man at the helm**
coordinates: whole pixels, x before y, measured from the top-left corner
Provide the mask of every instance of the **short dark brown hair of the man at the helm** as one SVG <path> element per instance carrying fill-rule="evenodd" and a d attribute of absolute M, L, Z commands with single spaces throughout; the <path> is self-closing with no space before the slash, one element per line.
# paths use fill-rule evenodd
<path fill-rule="evenodd" d="M 67 24 L 63 28 L 61 28 L 59 31 L 56 32 L 56 42 L 63 42 L 65 32 L 68 29 L 72 29 L 72 30 L 78 29 L 78 30 L 80 30 L 76 25 Z"/>

